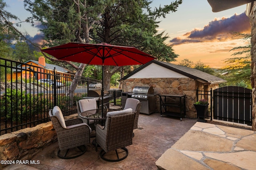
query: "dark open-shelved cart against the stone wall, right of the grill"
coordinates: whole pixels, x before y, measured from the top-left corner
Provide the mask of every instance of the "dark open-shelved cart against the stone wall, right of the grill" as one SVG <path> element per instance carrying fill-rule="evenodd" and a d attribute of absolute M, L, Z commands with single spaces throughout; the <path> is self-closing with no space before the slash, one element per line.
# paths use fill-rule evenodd
<path fill-rule="evenodd" d="M 160 115 L 186 117 L 186 95 L 184 94 L 160 94 Z"/>

